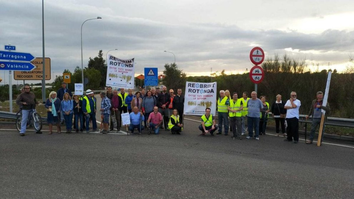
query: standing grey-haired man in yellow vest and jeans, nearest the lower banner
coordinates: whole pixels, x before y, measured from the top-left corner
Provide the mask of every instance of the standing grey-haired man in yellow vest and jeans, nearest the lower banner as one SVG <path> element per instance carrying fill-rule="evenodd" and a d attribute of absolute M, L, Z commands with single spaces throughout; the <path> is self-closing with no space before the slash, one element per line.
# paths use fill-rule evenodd
<path fill-rule="evenodd" d="M 217 101 L 218 104 L 218 120 L 219 120 L 219 130 L 217 135 L 221 134 L 222 131 L 222 124 L 224 123 L 224 135 L 228 135 L 229 133 L 229 119 L 228 119 L 228 111 L 227 107 L 230 106 L 230 99 L 225 96 L 225 91 L 219 91 L 220 97 Z"/>

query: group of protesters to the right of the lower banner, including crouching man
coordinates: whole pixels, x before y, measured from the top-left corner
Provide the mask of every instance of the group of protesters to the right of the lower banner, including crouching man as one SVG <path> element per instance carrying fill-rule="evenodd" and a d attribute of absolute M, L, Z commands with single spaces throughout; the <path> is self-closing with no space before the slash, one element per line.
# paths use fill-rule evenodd
<path fill-rule="evenodd" d="M 292 91 L 290 93 L 290 99 L 283 102 L 281 95 L 276 95 L 276 101 L 272 103 L 272 106 L 266 102 L 266 97 L 261 96 L 257 98 L 257 92 L 251 92 L 251 98 L 248 97 L 248 92 L 242 93 L 242 98 L 238 98 L 238 93 L 234 92 L 230 95 L 228 90 L 219 91 L 220 97 L 217 100 L 217 116 L 218 125 L 213 115 L 211 115 L 211 109 L 205 109 L 205 115 L 201 116 L 201 130 L 200 135 L 214 135 L 214 132 L 218 130 L 217 135 L 222 134 L 222 127 L 224 127 L 224 135 L 227 136 L 229 132 L 229 120 L 230 130 L 233 131 L 232 138 L 238 138 L 242 140 L 242 135 L 248 131 L 247 139 L 255 138 L 259 140 L 259 135 L 265 135 L 265 129 L 269 118 L 269 113 L 272 113 L 272 117 L 275 119 L 276 136 L 279 136 L 281 126 L 281 132 L 286 139 L 286 142 L 299 142 L 299 108 L 301 101 L 297 99 L 297 93 Z M 323 92 L 318 91 L 316 93 L 316 99 L 312 101 L 310 112 L 306 115 L 306 119 L 312 116 L 312 127 L 310 133 L 310 139 L 306 141 L 307 144 L 313 143 L 315 130 L 320 125 L 322 116 L 322 109 L 326 112 L 330 110 L 329 103 L 326 106 L 323 103 Z M 325 120 L 327 117 L 325 116 Z M 247 128 L 245 123 L 247 122 Z M 322 126 L 321 143 L 324 135 L 324 126 Z M 253 135 L 253 132 L 255 133 Z"/>

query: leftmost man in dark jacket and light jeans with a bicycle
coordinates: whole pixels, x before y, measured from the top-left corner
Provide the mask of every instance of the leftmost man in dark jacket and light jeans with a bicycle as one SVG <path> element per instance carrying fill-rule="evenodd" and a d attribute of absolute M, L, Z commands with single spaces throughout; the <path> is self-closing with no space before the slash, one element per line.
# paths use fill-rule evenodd
<path fill-rule="evenodd" d="M 37 100 L 36 96 L 33 92 L 30 91 L 30 87 L 28 84 L 24 86 L 24 92 L 21 93 L 16 99 L 16 104 L 21 107 L 22 106 L 22 120 L 21 120 L 21 130 L 20 136 L 24 136 L 27 128 L 27 120 L 30 117 L 30 113 L 32 109 L 36 107 Z M 42 133 L 41 131 L 37 131 L 36 133 Z"/>

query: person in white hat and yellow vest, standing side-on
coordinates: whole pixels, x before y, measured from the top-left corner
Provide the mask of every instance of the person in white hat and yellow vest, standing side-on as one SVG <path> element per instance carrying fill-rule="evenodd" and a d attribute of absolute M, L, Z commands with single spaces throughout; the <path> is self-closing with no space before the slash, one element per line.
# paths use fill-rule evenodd
<path fill-rule="evenodd" d="M 93 96 L 93 91 L 91 91 L 91 89 L 87 89 L 86 95 L 82 99 L 82 111 L 85 114 L 86 120 L 86 133 L 90 132 L 90 119 L 92 120 L 93 131 L 98 131 L 96 123 L 96 98 Z"/>

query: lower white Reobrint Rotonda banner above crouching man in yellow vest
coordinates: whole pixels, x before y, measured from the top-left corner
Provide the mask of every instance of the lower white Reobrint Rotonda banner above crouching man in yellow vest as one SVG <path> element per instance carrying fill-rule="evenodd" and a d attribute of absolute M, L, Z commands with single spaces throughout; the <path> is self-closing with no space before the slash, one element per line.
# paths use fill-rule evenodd
<path fill-rule="evenodd" d="M 185 115 L 204 115 L 205 109 L 210 108 L 211 114 L 216 112 L 216 82 L 185 83 L 184 110 Z"/>

